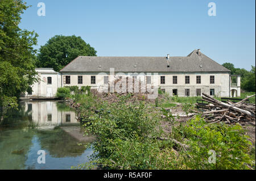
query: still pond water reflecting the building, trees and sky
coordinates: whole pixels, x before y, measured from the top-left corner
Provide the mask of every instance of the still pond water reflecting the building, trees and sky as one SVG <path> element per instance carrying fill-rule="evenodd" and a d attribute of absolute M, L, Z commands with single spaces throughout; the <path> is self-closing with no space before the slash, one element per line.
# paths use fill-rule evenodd
<path fill-rule="evenodd" d="M 71 169 L 88 162 L 92 149 L 83 137 L 76 113 L 61 102 L 21 102 L 0 115 L 0 169 Z M 46 163 L 38 163 L 38 151 Z"/>

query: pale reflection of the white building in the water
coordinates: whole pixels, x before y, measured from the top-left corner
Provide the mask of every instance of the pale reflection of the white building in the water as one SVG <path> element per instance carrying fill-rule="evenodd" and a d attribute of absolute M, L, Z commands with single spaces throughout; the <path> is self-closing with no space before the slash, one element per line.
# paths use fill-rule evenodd
<path fill-rule="evenodd" d="M 26 102 L 25 111 L 31 112 L 32 121 L 40 129 L 53 129 L 61 124 L 78 123 L 75 111 L 68 107 L 58 110 L 57 105 L 57 102 L 50 101 Z"/>

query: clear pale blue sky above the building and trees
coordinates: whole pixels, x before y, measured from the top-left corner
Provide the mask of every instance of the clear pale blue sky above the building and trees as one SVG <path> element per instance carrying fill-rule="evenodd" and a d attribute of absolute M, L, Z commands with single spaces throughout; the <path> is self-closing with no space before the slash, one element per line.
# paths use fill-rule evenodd
<path fill-rule="evenodd" d="M 76 35 L 97 56 L 187 56 L 201 52 L 219 64 L 255 65 L 254 0 L 25 0 L 20 28 L 35 30 L 38 46 L 55 35 Z M 38 16 L 39 2 L 46 16 Z M 216 16 L 208 16 L 208 3 Z"/>

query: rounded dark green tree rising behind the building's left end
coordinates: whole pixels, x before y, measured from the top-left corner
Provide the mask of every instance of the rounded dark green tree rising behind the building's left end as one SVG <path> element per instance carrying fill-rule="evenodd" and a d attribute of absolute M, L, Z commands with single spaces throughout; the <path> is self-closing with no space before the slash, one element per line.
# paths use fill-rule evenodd
<path fill-rule="evenodd" d="M 59 71 L 78 56 L 96 56 L 96 53 L 80 36 L 56 35 L 41 46 L 36 66 Z"/>

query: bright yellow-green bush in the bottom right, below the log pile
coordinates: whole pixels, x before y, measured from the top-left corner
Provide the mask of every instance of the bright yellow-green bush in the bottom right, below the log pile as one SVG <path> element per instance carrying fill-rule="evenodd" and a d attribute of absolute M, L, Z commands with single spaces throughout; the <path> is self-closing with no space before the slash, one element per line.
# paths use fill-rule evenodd
<path fill-rule="evenodd" d="M 185 137 L 191 149 L 185 164 L 191 169 L 249 169 L 251 142 L 241 125 L 208 124 L 201 117 L 188 121 Z M 209 150 L 216 152 L 216 163 L 208 163 Z"/>

